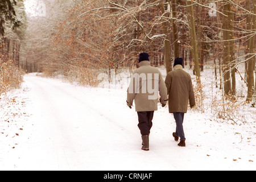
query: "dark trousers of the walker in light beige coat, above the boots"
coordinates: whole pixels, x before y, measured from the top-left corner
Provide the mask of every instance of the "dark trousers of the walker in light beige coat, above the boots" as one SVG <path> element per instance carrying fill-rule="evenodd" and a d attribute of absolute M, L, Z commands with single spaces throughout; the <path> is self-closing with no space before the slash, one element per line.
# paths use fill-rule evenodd
<path fill-rule="evenodd" d="M 139 111 L 138 118 L 139 118 L 139 130 L 141 130 L 141 135 L 148 135 L 150 133 L 150 129 L 153 125 L 152 119 L 154 116 L 153 111 Z"/>

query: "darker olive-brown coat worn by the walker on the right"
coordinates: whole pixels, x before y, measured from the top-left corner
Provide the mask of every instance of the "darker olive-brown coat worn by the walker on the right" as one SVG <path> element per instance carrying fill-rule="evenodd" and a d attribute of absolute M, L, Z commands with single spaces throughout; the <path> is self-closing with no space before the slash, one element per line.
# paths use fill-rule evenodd
<path fill-rule="evenodd" d="M 187 113 L 188 100 L 190 106 L 195 106 L 191 76 L 183 71 L 180 64 L 166 76 L 166 87 L 169 95 L 169 113 Z"/>

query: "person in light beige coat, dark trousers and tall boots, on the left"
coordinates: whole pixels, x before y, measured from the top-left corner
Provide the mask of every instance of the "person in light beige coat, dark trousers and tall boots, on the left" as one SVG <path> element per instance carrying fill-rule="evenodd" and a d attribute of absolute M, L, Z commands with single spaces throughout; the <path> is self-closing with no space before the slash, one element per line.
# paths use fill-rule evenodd
<path fill-rule="evenodd" d="M 158 110 L 158 92 L 160 103 L 167 103 L 167 89 L 160 71 L 150 66 L 147 53 L 139 55 L 139 68 L 134 71 L 127 89 L 127 106 L 131 108 L 135 101 L 135 111 L 138 113 L 139 130 L 142 135 L 142 150 L 149 150 L 150 129 L 154 111 Z"/>

